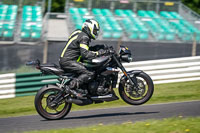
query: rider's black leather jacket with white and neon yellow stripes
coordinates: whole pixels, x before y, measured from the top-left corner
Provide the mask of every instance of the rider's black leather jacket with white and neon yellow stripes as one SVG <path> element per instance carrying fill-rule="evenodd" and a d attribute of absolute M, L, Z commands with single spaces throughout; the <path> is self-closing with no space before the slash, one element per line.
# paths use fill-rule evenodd
<path fill-rule="evenodd" d="M 75 30 L 70 35 L 60 59 L 62 61 L 77 61 L 80 59 L 92 59 L 98 56 L 98 52 L 89 50 L 91 38 L 81 30 Z"/>

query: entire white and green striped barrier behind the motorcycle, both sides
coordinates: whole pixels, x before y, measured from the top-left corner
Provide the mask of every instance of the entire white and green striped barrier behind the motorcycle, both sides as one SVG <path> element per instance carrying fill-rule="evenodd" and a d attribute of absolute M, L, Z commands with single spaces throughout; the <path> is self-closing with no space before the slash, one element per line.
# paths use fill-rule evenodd
<path fill-rule="evenodd" d="M 154 84 L 200 80 L 200 56 L 124 63 L 127 71 L 143 70 Z M 58 83 L 57 76 L 41 73 L 0 75 L 0 99 L 35 95 L 44 85 Z"/>

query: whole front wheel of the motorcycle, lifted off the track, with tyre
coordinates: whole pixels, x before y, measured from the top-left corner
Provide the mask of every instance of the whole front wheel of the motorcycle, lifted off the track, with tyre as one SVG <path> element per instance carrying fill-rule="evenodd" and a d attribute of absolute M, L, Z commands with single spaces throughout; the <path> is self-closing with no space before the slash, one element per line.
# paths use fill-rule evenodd
<path fill-rule="evenodd" d="M 135 78 L 138 88 L 132 86 L 129 80 L 126 79 L 119 84 L 119 94 L 126 103 L 141 105 L 146 103 L 153 95 L 154 85 L 149 75 L 144 72 L 137 74 Z"/>

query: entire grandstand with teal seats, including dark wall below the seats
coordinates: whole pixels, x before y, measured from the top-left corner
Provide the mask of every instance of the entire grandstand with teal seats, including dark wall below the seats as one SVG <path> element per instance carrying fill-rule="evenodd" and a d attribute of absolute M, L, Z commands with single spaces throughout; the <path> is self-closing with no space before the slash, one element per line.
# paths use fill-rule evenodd
<path fill-rule="evenodd" d="M 180 0 L 66 0 L 61 13 L 45 1 L 0 1 L 0 69 L 35 58 L 57 63 L 68 36 L 86 19 L 100 23 L 93 44 L 126 45 L 137 61 L 200 55 L 200 15 Z"/>

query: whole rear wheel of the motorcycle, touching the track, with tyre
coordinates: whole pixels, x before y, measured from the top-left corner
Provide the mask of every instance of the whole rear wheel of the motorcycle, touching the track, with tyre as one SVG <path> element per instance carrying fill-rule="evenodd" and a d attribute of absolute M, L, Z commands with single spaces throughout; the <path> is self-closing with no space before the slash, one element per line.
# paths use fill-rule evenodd
<path fill-rule="evenodd" d="M 37 112 L 45 119 L 56 120 L 65 117 L 71 110 L 71 103 L 64 99 L 60 102 L 52 102 L 62 93 L 62 90 L 56 86 L 43 87 L 35 97 L 35 108 Z"/>

